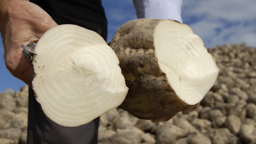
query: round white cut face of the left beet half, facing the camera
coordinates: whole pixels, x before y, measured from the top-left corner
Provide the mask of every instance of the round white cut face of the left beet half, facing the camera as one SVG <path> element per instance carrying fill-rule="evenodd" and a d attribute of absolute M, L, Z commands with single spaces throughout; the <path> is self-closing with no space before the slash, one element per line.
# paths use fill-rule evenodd
<path fill-rule="evenodd" d="M 119 106 L 127 92 L 115 52 L 97 33 L 59 25 L 38 41 L 33 89 L 44 113 L 79 126 Z"/>

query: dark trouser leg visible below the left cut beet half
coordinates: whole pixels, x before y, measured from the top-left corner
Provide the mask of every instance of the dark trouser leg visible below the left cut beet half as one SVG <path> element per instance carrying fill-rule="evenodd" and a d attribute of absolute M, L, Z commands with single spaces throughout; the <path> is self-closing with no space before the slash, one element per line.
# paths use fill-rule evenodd
<path fill-rule="evenodd" d="M 27 144 L 95 144 L 100 117 L 88 124 L 65 127 L 45 116 L 34 92 L 29 88 Z"/>

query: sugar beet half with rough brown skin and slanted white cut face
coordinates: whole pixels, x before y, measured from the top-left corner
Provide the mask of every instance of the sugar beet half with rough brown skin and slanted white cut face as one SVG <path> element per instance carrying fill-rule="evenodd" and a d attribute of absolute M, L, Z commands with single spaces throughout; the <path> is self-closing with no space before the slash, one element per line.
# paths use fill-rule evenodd
<path fill-rule="evenodd" d="M 172 115 L 200 102 L 219 73 L 201 38 L 171 20 L 131 20 L 116 31 L 110 47 L 129 88 L 119 107 L 140 119 Z"/>

